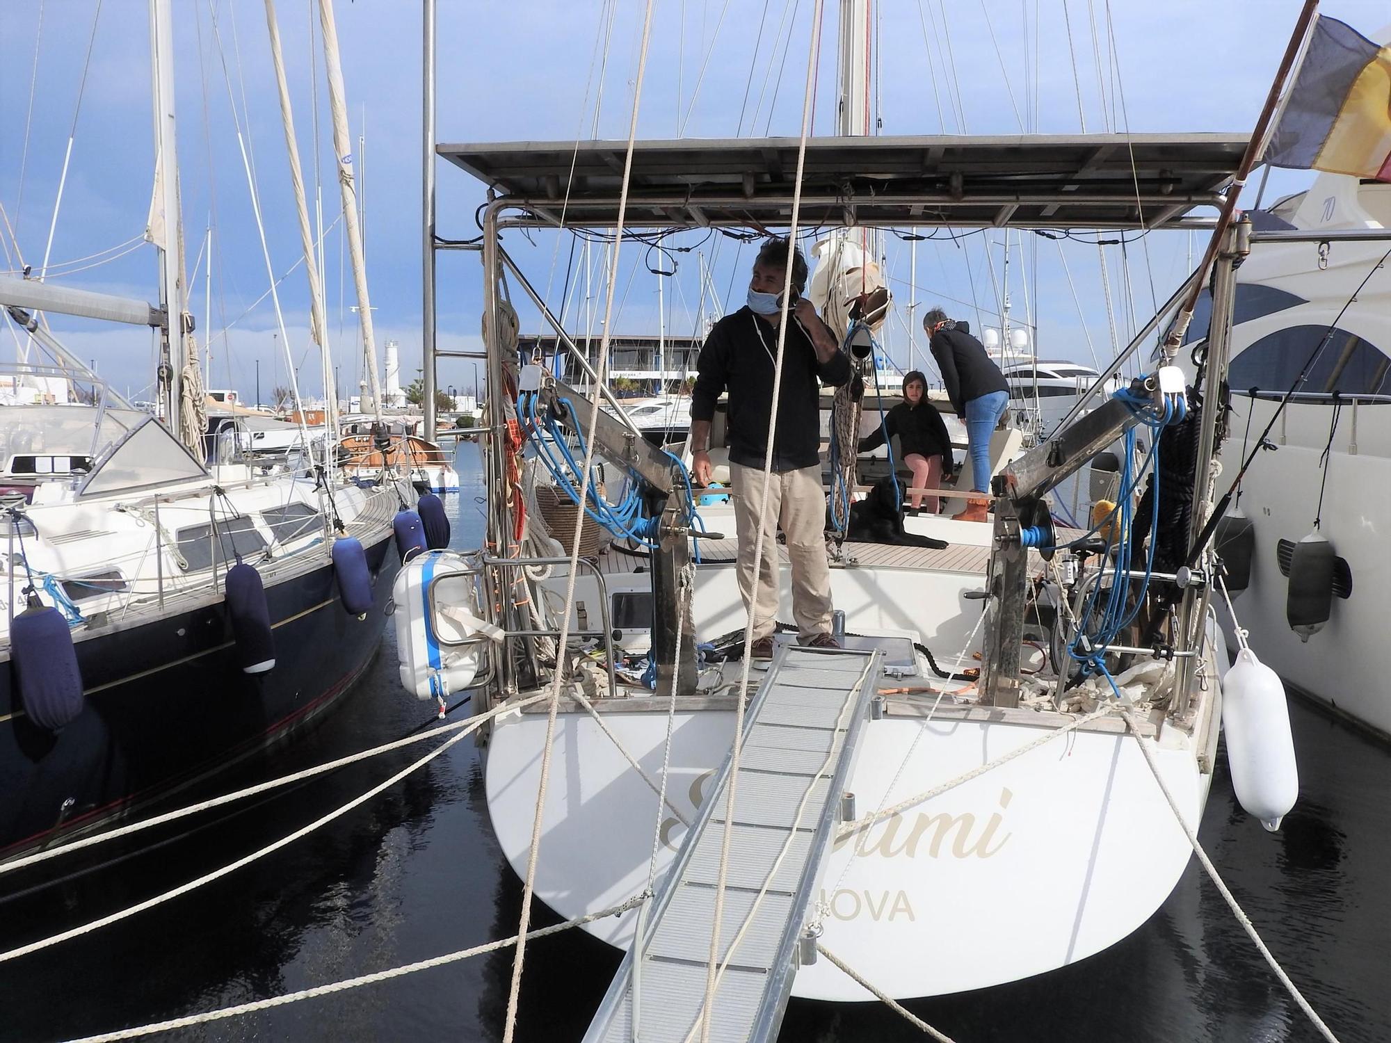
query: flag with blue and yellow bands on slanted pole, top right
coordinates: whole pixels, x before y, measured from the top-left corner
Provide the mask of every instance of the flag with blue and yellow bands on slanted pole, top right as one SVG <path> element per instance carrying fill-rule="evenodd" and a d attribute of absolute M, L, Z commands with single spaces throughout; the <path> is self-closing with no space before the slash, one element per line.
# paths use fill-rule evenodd
<path fill-rule="evenodd" d="M 1319 18 L 1264 161 L 1391 181 L 1391 46 Z"/>

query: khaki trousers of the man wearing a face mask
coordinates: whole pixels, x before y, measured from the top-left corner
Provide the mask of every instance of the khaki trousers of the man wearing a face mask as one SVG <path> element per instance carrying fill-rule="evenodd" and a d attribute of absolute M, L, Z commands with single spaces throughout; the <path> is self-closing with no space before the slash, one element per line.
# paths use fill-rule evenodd
<path fill-rule="evenodd" d="M 778 526 L 787 537 L 791 560 L 791 615 L 803 641 L 830 633 L 830 566 L 826 563 L 826 498 L 821 467 L 773 473 L 764 488 L 762 467 L 729 466 L 734 490 L 734 531 L 739 534 L 739 592 L 753 619 L 754 640 L 772 636 L 778 623 Z M 754 580 L 758 506 L 764 524 L 764 556 Z"/>

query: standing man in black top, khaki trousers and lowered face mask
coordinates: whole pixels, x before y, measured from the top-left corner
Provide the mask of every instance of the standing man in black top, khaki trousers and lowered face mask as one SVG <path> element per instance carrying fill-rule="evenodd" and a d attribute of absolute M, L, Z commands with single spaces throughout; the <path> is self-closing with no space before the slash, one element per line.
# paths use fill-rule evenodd
<path fill-rule="evenodd" d="M 791 303 L 783 348 L 772 471 L 764 481 L 768 420 L 782 292 L 791 264 Z M 807 260 L 786 239 L 769 239 L 754 259 L 748 305 L 725 316 L 705 338 L 691 391 L 691 473 L 709 484 L 709 424 L 715 402 L 729 391 L 729 470 L 739 534 L 739 592 L 748 609 L 754 659 L 771 659 L 778 620 L 778 526 L 787 537 L 791 605 L 800 641 L 837 648 L 830 636 L 830 567 L 826 562 L 826 496 L 821 488 L 821 384 L 850 380 L 850 360 L 835 334 L 801 296 Z M 764 510 L 764 553 L 754 576 L 758 512 Z"/>

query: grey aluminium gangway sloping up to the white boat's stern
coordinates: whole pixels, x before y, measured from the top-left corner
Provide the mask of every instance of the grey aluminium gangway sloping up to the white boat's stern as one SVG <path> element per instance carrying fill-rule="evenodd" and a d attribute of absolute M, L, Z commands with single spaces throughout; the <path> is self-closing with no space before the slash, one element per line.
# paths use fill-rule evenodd
<path fill-rule="evenodd" d="M 778 1035 L 883 654 L 782 645 L 748 706 L 734 791 L 712 1040 Z M 586 1043 L 683 1043 L 705 1001 L 733 754 L 638 918 Z M 634 1017 L 636 1011 L 636 1017 Z"/>

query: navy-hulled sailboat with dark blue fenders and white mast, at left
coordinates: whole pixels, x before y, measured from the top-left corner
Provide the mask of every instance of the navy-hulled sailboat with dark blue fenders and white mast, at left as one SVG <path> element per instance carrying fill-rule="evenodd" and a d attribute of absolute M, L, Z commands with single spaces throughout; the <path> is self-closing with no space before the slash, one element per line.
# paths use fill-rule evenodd
<path fill-rule="evenodd" d="M 359 488 L 331 452 L 316 458 L 328 439 L 305 437 L 281 462 L 235 438 L 204 455 L 170 8 L 152 0 L 159 305 L 0 280 L 7 321 L 51 359 L 4 367 L 28 394 L 0 410 L 0 855 L 124 814 L 331 706 L 376 651 L 401 562 L 392 519 L 413 502 L 394 473 Z M 156 330 L 166 420 L 75 359 L 45 312 Z"/>

